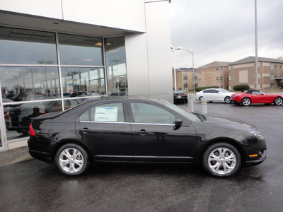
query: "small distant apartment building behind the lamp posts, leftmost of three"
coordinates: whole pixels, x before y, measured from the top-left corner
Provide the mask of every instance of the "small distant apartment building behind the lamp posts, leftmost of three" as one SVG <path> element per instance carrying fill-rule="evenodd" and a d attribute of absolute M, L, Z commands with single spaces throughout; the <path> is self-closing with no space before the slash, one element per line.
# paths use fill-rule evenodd
<path fill-rule="evenodd" d="M 175 88 L 175 76 L 174 69 L 172 70 L 173 86 Z M 180 68 L 176 69 L 176 90 L 190 91 L 194 90 L 193 69 L 192 68 Z M 197 80 L 195 78 L 195 88 L 197 87 Z"/>

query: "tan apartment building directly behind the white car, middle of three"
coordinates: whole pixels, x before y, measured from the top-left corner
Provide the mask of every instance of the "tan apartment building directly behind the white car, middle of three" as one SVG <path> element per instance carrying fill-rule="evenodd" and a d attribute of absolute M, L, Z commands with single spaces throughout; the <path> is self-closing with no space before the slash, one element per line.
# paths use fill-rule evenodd
<path fill-rule="evenodd" d="M 227 89 L 229 62 L 214 61 L 197 68 L 197 86 L 218 86 Z"/>

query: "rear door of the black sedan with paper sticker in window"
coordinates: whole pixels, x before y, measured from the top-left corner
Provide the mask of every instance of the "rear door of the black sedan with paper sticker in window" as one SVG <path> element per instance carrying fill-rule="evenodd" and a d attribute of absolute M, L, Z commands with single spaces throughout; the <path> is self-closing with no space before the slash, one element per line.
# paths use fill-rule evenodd
<path fill-rule="evenodd" d="M 89 108 L 80 115 L 76 131 L 96 160 L 133 160 L 132 132 L 123 102 Z"/>

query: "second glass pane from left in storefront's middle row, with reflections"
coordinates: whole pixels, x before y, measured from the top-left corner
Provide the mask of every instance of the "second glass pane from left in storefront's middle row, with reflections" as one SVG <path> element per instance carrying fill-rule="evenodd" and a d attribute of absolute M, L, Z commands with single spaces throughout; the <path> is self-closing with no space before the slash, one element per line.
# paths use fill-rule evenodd
<path fill-rule="evenodd" d="M 104 71 L 102 68 L 62 68 L 64 98 L 104 95 Z"/>

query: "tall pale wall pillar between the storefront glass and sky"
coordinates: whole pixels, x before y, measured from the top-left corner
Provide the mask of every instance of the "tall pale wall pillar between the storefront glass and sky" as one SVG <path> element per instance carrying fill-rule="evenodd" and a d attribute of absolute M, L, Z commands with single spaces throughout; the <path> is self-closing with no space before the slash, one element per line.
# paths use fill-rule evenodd
<path fill-rule="evenodd" d="M 169 2 L 146 3 L 146 33 L 125 37 L 129 95 L 173 102 Z"/>

